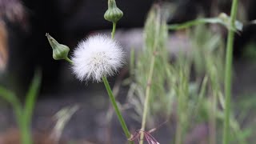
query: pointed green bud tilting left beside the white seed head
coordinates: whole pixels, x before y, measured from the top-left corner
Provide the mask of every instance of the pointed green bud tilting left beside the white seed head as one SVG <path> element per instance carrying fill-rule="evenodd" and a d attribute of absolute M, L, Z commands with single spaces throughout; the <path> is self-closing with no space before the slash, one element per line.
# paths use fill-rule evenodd
<path fill-rule="evenodd" d="M 68 46 L 59 44 L 50 34 L 46 33 L 46 37 L 53 49 L 53 58 L 55 60 L 68 59 L 67 54 L 69 54 L 70 48 Z"/>

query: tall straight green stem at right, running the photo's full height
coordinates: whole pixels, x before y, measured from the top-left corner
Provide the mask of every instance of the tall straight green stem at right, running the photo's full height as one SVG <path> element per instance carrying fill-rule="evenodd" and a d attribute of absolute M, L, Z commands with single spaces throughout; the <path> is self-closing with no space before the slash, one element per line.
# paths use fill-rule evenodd
<path fill-rule="evenodd" d="M 230 25 L 234 27 L 238 10 L 238 0 L 233 0 L 230 15 Z M 229 143 L 230 136 L 230 97 L 231 97 L 231 78 L 233 62 L 234 30 L 229 30 L 226 44 L 226 66 L 225 66 L 225 118 L 223 127 L 223 144 Z"/>

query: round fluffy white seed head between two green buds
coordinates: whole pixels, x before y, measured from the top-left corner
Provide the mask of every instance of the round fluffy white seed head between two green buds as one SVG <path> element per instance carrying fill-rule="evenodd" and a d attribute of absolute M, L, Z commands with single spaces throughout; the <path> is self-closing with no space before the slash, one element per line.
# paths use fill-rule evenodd
<path fill-rule="evenodd" d="M 102 81 L 112 76 L 124 63 L 122 47 L 105 35 L 95 35 L 78 43 L 72 58 L 72 69 L 81 81 Z"/>

